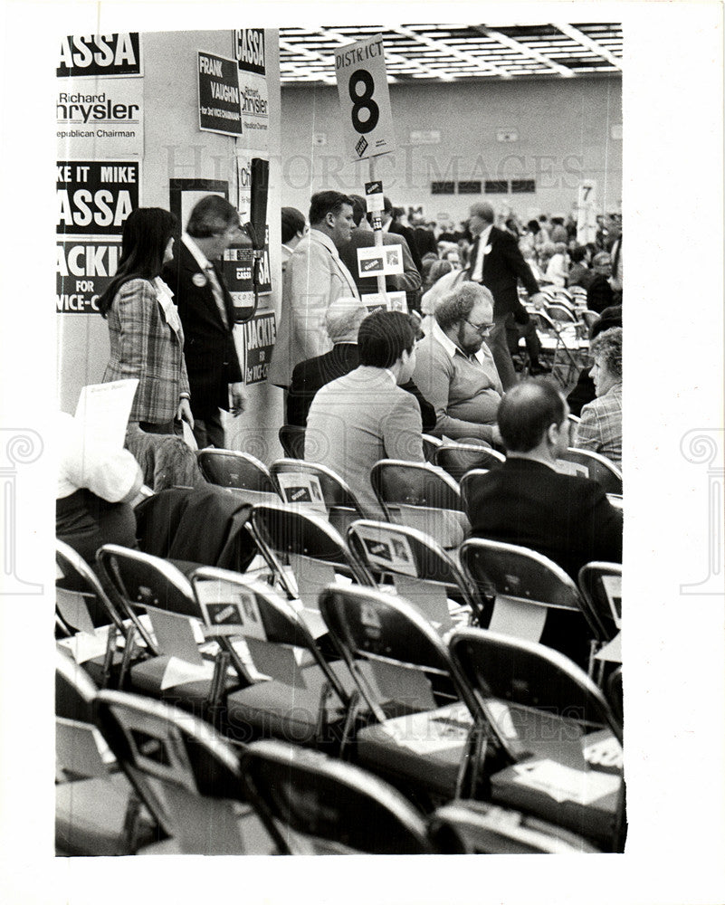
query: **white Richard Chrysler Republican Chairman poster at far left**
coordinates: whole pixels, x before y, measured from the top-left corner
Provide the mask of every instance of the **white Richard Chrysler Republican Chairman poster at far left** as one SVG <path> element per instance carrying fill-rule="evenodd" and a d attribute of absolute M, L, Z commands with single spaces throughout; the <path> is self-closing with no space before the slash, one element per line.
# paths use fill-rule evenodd
<path fill-rule="evenodd" d="M 143 157 L 143 79 L 59 80 L 55 120 L 59 159 Z"/>

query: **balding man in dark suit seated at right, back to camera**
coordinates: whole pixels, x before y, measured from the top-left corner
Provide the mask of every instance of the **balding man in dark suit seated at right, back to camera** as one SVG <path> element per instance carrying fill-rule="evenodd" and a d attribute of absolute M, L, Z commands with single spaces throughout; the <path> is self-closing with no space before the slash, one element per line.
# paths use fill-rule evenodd
<path fill-rule="evenodd" d="M 546 379 L 524 380 L 504 395 L 498 425 L 507 459 L 476 484 L 468 516 L 472 537 L 536 550 L 576 582 L 587 562 L 622 562 L 622 512 L 596 481 L 557 472 L 568 414 Z M 577 614 L 549 613 L 541 642 L 586 663 L 586 626 Z"/>

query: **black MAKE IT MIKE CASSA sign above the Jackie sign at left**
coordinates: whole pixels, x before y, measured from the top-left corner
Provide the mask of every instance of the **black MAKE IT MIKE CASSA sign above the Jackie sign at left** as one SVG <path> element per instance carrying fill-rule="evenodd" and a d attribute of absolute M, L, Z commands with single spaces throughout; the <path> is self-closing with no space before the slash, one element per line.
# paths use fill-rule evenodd
<path fill-rule="evenodd" d="M 59 234 L 120 235 L 138 207 L 138 160 L 63 160 L 57 164 Z"/>

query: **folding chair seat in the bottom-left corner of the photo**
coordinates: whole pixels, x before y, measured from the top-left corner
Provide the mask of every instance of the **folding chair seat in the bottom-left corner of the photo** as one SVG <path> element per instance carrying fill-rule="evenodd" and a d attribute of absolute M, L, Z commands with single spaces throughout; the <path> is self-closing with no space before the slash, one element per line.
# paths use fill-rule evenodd
<path fill-rule="evenodd" d="M 65 855 L 133 854 L 123 836 L 133 794 L 121 773 L 55 786 L 56 851 Z M 137 843 L 151 843 L 156 833 L 149 819 L 143 821 Z"/>

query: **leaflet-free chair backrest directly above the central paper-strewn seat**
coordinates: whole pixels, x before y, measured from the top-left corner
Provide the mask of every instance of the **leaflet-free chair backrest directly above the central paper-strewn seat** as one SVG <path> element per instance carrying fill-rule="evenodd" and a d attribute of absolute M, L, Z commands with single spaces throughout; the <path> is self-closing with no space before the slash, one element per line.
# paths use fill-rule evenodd
<path fill-rule="evenodd" d="M 475 706 L 471 692 L 458 681 L 440 634 L 402 597 L 371 588 L 329 586 L 320 594 L 320 612 L 379 721 L 386 719 L 386 704 L 407 713 L 434 710 L 452 700 Z M 369 672 L 361 668 L 362 662 Z"/>

